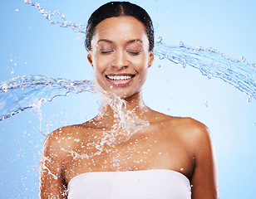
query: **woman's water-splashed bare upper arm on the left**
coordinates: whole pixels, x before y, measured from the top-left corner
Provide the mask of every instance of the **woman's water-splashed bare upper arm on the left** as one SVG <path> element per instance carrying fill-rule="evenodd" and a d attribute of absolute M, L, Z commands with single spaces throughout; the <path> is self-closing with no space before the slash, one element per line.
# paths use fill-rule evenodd
<path fill-rule="evenodd" d="M 43 145 L 39 198 L 67 198 L 66 184 L 62 177 L 62 150 L 57 143 L 59 133 L 53 132 L 47 136 Z"/>

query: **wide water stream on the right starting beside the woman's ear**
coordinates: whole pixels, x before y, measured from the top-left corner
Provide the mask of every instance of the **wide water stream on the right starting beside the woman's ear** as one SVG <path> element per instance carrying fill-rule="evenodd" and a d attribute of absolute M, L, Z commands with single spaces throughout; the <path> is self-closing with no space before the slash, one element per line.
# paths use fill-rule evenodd
<path fill-rule="evenodd" d="M 168 59 L 184 67 L 192 66 L 209 79 L 217 77 L 234 85 L 249 95 L 249 101 L 256 99 L 256 65 L 249 64 L 244 57 L 233 60 L 218 50 L 185 46 L 183 42 L 179 46 L 169 46 L 161 38 L 155 43 L 154 53 L 161 60 Z"/>

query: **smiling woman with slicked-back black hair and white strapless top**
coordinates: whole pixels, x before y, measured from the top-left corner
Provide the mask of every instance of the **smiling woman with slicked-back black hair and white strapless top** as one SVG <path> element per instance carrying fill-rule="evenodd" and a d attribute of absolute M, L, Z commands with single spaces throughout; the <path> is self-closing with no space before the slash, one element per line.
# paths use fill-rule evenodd
<path fill-rule="evenodd" d="M 209 129 L 144 104 L 153 48 L 143 8 L 109 2 L 92 13 L 86 49 L 104 98 L 100 114 L 47 136 L 41 198 L 218 198 Z"/>

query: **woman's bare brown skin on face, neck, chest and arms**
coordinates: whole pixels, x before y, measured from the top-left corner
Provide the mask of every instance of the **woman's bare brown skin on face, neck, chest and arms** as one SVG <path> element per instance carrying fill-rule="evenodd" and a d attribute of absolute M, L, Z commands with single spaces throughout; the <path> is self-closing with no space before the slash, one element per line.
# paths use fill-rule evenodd
<path fill-rule="evenodd" d="M 66 198 L 68 182 L 84 172 L 148 169 L 170 169 L 184 174 L 193 186 L 193 199 L 218 198 L 209 129 L 194 119 L 160 114 L 143 102 L 141 86 L 154 60 L 153 53 L 148 50 L 143 25 L 134 17 L 108 18 L 96 27 L 91 44 L 88 61 L 101 88 L 125 99 L 126 109 L 133 109 L 135 115 L 150 125 L 130 136 L 122 134 L 122 129 L 116 129 L 119 141 L 105 144 L 98 154 L 96 145 L 91 143 L 100 142 L 104 133 L 119 122 L 118 119 L 114 121 L 113 109 L 108 105 L 96 118 L 84 124 L 50 133 L 44 143 L 42 157 L 45 158 L 41 162 L 44 166 L 40 175 L 41 198 Z M 130 49 L 140 53 L 135 56 Z M 109 74 L 132 74 L 135 77 L 129 85 L 111 86 L 106 78 Z"/>

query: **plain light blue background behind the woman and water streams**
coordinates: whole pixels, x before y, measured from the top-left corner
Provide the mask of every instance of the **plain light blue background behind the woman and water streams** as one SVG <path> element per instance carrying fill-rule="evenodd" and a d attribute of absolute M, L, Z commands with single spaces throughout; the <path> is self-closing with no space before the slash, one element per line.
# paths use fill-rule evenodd
<path fill-rule="evenodd" d="M 47 11 L 58 10 L 75 23 L 86 23 L 106 1 L 38 0 Z M 149 12 L 155 37 L 166 44 L 213 47 L 226 56 L 245 56 L 256 63 L 256 2 L 131 1 Z M 48 75 L 92 80 L 91 66 L 79 35 L 52 26 L 22 0 L 0 2 L 0 81 L 22 75 Z M 58 17 L 54 19 L 59 20 Z M 83 38 L 83 36 L 81 36 Z M 185 69 L 155 57 L 144 87 L 151 108 L 190 116 L 211 129 L 219 166 L 220 198 L 255 198 L 256 101 L 190 66 Z M 41 111 L 23 111 L 0 122 L 0 197 L 37 198 L 38 163 L 44 136 L 60 126 L 77 124 L 97 112 L 91 93 L 59 97 Z M 38 115 L 42 115 L 42 119 Z"/>

